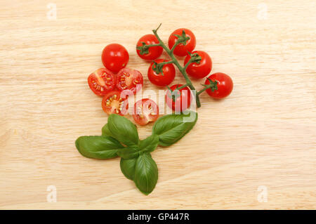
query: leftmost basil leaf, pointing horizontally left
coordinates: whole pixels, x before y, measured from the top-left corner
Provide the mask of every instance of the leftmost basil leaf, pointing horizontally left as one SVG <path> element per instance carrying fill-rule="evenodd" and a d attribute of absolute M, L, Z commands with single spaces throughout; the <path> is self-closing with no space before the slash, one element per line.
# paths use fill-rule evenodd
<path fill-rule="evenodd" d="M 117 157 L 117 150 L 124 147 L 110 136 L 81 136 L 75 145 L 84 157 L 93 159 L 111 159 Z"/>

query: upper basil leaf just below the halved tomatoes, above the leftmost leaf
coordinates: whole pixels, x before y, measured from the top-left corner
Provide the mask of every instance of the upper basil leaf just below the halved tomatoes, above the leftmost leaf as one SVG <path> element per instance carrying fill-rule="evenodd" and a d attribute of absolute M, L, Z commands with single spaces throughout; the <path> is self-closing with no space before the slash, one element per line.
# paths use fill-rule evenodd
<path fill-rule="evenodd" d="M 118 114 L 111 114 L 107 119 L 107 126 L 112 136 L 124 145 L 138 145 L 136 125 L 129 119 Z"/>

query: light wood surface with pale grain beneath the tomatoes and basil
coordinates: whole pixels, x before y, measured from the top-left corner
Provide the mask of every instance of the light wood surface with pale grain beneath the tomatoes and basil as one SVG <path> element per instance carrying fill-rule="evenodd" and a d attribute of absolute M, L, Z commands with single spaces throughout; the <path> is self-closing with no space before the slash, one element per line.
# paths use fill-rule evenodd
<path fill-rule="evenodd" d="M 1 209 L 316 209 L 315 1 L 52 2 L 56 20 L 49 1 L 1 0 Z M 107 121 L 86 83 L 105 45 L 123 44 L 158 89 L 135 46 L 160 22 L 164 41 L 191 29 L 235 86 L 225 100 L 203 94 L 195 128 L 152 153 L 159 180 L 145 196 L 119 159 L 84 158 L 74 140 Z"/>

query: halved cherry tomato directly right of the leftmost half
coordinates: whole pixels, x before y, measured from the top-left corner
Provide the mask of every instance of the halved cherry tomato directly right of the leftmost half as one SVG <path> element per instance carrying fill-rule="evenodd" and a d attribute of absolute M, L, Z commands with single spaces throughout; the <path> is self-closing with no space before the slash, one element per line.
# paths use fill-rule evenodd
<path fill-rule="evenodd" d="M 117 74 L 117 88 L 120 91 L 131 90 L 136 93 L 143 86 L 143 75 L 138 70 L 124 68 Z"/>

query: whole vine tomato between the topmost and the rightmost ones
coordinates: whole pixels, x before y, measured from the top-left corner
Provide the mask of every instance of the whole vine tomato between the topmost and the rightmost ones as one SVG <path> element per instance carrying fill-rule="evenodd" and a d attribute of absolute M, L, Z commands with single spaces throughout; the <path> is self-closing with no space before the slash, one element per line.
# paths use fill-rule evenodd
<path fill-rule="evenodd" d="M 206 77 L 206 75 L 208 75 L 212 70 L 211 57 L 205 51 L 192 51 L 192 53 L 197 53 L 202 59 L 200 60 L 199 64 L 193 62 L 187 66 L 186 72 L 188 75 L 190 75 L 190 77 L 202 79 Z M 190 60 L 190 58 L 190 55 L 185 57 L 184 65 Z"/>

